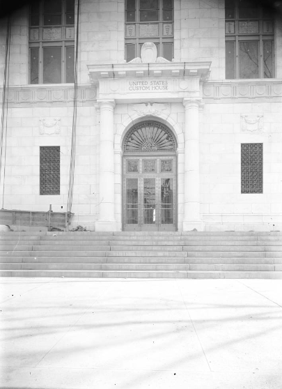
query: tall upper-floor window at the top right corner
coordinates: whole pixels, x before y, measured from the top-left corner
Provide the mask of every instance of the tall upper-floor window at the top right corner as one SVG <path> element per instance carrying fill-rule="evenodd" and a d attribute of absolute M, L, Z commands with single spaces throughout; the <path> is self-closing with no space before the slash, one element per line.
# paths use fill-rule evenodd
<path fill-rule="evenodd" d="M 226 0 L 226 79 L 274 77 L 274 17 L 253 0 Z"/>

